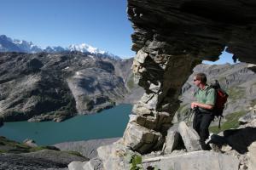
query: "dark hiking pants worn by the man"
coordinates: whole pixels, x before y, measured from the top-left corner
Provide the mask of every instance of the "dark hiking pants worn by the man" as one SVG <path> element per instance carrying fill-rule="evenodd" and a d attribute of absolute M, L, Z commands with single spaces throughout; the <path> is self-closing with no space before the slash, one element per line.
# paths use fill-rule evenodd
<path fill-rule="evenodd" d="M 209 150 L 209 146 L 205 143 L 209 137 L 209 126 L 213 120 L 214 116 L 209 113 L 195 113 L 194 120 L 193 120 L 193 128 L 200 136 L 200 143 L 201 148 L 203 150 Z"/>

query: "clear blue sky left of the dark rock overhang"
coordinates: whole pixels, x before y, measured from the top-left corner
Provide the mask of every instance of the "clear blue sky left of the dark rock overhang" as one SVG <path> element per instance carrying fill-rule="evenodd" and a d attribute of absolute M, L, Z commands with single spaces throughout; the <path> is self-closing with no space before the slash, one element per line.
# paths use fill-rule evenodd
<path fill-rule="evenodd" d="M 1 0 L 0 35 L 46 46 L 85 42 L 132 57 L 126 0 Z"/>

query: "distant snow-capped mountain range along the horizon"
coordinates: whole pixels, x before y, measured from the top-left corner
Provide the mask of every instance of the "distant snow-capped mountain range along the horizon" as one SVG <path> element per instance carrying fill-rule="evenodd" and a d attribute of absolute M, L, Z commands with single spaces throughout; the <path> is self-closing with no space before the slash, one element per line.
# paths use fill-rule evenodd
<path fill-rule="evenodd" d="M 72 52 L 79 51 L 81 53 L 90 53 L 101 55 L 102 57 L 109 57 L 112 59 L 121 59 L 119 56 L 111 54 L 109 52 L 103 51 L 99 48 L 94 48 L 86 43 L 73 44 L 68 46 L 68 48 L 57 47 L 47 47 L 40 48 L 34 45 L 32 42 L 26 42 L 24 40 L 12 39 L 6 37 L 5 35 L 0 36 L 0 52 L 22 52 L 22 53 L 60 53 L 60 52 Z"/>

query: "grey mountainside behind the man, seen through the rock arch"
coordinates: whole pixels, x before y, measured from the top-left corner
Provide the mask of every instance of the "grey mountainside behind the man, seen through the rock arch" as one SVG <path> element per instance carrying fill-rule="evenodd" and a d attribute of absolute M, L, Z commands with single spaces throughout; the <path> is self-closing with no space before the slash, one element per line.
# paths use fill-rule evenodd
<path fill-rule="evenodd" d="M 248 108 L 256 103 L 256 74 L 247 68 L 247 64 L 238 63 L 236 65 L 197 65 L 194 72 L 204 72 L 207 74 L 208 84 L 218 80 L 220 86 L 229 94 L 228 102 L 224 109 L 224 116 L 243 116 L 249 112 Z M 176 116 L 173 122 L 180 122 L 186 117 L 185 113 L 194 100 L 193 94 L 196 87 L 193 85 L 192 74 L 182 88 L 182 95 Z M 226 119 L 227 119 L 226 118 Z M 239 117 L 236 117 L 238 121 Z M 236 127 L 234 124 L 232 127 Z"/>

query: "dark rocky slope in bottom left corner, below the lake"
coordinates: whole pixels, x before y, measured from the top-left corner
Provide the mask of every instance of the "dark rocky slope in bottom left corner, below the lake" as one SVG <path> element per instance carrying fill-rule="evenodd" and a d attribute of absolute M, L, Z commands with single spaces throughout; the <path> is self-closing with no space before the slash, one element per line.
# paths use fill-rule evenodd
<path fill-rule="evenodd" d="M 70 161 L 88 161 L 75 151 L 61 151 L 54 146 L 17 143 L 0 136 L 0 169 L 65 168 Z"/>

